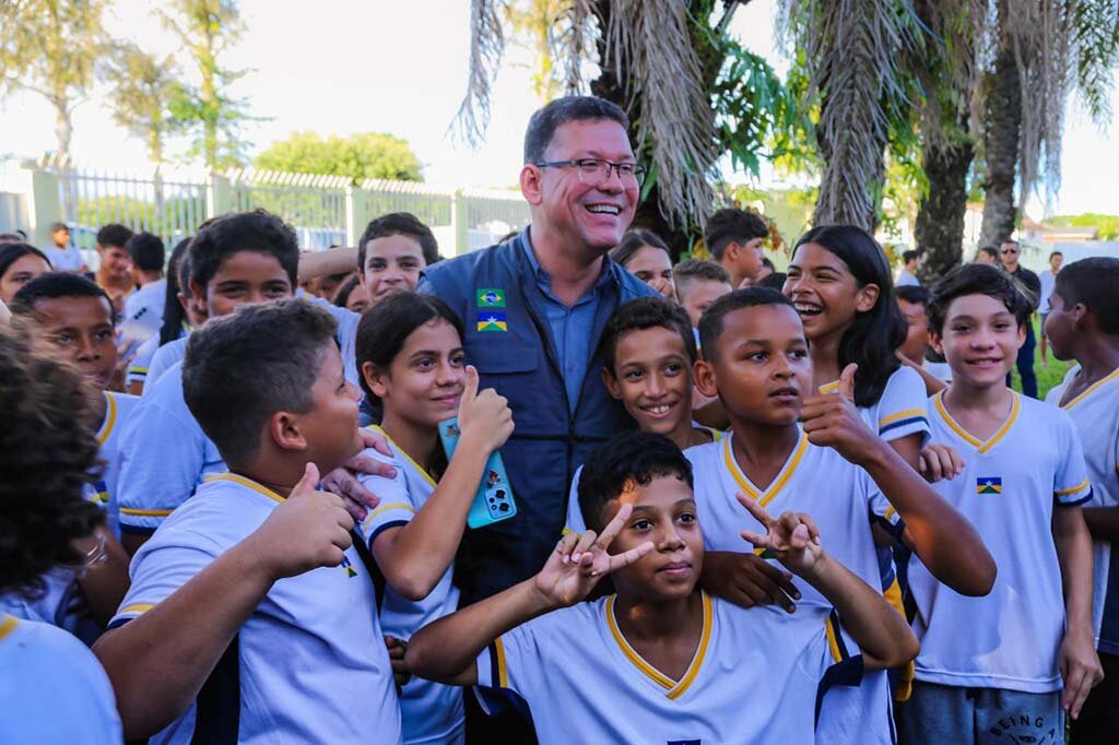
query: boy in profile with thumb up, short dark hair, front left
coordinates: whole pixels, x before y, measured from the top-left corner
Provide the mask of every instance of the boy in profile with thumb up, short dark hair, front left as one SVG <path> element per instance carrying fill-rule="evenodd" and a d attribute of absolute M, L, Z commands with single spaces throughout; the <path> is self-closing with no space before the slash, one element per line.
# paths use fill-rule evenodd
<path fill-rule="evenodd" d="M 184 396 L 229 472 L 143 545 L 94 650 L 126 739 L 399 742 L 354 520 L 316 491 L 361 447 L 335 331 L 327 311 L 283 300 L 190 337 Z"/>

